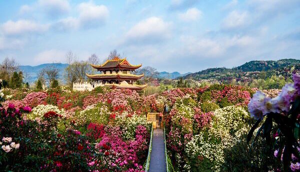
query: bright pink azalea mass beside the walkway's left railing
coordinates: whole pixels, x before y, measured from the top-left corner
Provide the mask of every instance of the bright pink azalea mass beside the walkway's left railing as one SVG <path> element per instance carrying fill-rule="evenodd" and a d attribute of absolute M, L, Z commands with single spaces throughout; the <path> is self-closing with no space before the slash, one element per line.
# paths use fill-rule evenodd
<path fill-rule="evenodd" d="M 134 141 L 123 141 L 119 127 L 107 127 L 101 141 L 96 145 L 100 152 L 104 153 L 103 161 L 111 162 L 109 169 L 121 169 L 121 171 L 142 171 L 138 165 L 147 147 L 149 134 L 144 126 L 137 126 Z M 112 170 L 114 171 L 114 170 Z"/>

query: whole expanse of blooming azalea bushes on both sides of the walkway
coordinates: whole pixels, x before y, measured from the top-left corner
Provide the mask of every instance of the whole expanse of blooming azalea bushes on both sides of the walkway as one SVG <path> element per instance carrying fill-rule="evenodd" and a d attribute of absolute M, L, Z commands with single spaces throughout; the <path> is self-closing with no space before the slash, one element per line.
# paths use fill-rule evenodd
<path fill-rule="evenodd" d="M 143 172 L 151 133 L 146 114 L 164 110 L 169 172 L 299 171 L 295 153 L 285 169 L 286 144 L 278 139 L 285 136 L 278 125 L 259 123 L 272 116 L 268 113 L 284 115 L 291 104 L 282 97 L 295 101 L 284 95 L 298 87 L 258 91 L 214 84 L 149 96 L 105 88 L 5 88 L 0 94 L 0 170 Z"/>

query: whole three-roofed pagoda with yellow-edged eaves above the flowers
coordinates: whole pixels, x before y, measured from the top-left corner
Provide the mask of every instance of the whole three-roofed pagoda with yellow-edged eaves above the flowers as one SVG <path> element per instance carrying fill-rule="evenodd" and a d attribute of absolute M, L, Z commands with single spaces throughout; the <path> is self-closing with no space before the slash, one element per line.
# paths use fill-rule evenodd
<path fill-rule="evenodd" d="M 137 85 L 136 81 L 144 75 L 135 75 L 135 69 L 141 67 L 140 65 L 131 65 L 125 58 L 114 57 L 112 60 L 106 60 L 101 65 L 91 66 L 101 74 L 86 76 L 93 80 L 95 86 L 107 86 L 109 88 L 124 88 L 141 90 L 146 85 Z"/>

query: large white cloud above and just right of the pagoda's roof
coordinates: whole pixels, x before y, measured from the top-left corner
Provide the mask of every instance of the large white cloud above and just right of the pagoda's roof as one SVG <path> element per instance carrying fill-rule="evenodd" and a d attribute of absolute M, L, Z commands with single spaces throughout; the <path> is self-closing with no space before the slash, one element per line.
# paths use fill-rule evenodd
<path fill-rule="evenodd" d="M 149 17 L 135 24 L 125 35 L 128 42 L 153 42 L 170 37 L 171 24 L 159 17 Z"/>

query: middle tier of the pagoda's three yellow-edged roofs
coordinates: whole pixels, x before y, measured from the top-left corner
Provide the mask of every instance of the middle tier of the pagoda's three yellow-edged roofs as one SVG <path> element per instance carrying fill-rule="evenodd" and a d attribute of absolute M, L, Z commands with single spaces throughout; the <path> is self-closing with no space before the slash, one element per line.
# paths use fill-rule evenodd
<path fill-rule="evenodd" d="M 129 80 L 136 80 L 140 79 L 144 75 L 133 75 L 133 74 L 124 74 L 124 73 L 113 73 L 113 74 L 96 74 L 96 75 L 89 75 L 86 76 L 90 79 L 129 79 Z"/>

